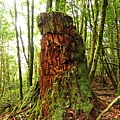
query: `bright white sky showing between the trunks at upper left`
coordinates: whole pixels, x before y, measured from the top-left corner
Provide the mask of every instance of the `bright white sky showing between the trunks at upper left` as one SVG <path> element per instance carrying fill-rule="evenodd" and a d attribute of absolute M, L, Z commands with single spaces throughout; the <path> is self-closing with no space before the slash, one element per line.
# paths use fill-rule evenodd
<path fill-rule="evenodd" d="M 1 8 L 4 8 L 6 11 L 6 15 L 4 15 L 6 17 L 6 19 L 11 22 L 14 23 L 14 0 L 0 0 L 0 2 L 2 2 L 3 6 L 0 6 Z M 21 27 L 22 30 L 22 38 L 24 41 L 24 45 L 25 48 L 27 48 L 27 6 L 26 6 L 26 0 L 16 0 L 16 4 L 17 4 L 17 12 L 18 12 L 18 18 L 17 18 L 17 25 L 18 25 L 18 29 Z M 34 0 L 34 47 L 40 47 L 40 33 L 38 32 L 38 28 L 37 28 L 37 23 L 36 23 L 36 17 L 40 12 L 45 12 L 45 3 L 44 4 L 40 4 L 39 0 Z M 30 5 L 30 11 L 31 11 L 31 5 Z M 30 13 L 31 15 L 31 13 Z M 13 18 L 12 18 L 13 17 Z M 14 24 L 10 24 L 11 28 L 14 29 Z M 19 31 L 19 30 L 18 30 Z M 11 47 L 11 50 L 9 50 L 9 54 L 10 55 L 14 55 L 15 59 L 17 60 L 17 53 L 16 53 L 16 38 L 14 38 L 14 40 L 12 40 L 9 44 Z M 22 69 L 25 70 L 25 66 L 26 66 L 26 62 L 25 62 L 25 58 L 22 52 L 22 45 L 21 45 L 21 40 L 20 40 L 20 50 L 21 50 L 21 63 L 22 63 Z M 26 52 L 27 54 L 27 52 Z"/>

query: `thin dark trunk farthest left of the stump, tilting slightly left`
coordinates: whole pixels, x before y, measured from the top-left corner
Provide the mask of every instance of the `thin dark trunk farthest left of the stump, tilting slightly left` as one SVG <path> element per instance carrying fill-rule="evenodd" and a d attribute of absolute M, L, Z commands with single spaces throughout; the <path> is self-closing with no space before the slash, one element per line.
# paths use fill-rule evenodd
<path fill-rule="evenodd" d="M 19 50 L 19 35 L 18 35 L 18 30 L 17 30 L 16 0 L 14 1 L 14 8 L 15 8 L 15 32 L 16 32 L 16 39 L 17 39 L 17 56 L 18 56 L 18 68 L 19 68 L 19 80 L 20 80 L 20 99 L 23 99 L 23 93 L 22 93 L 22 71 L 21 71 L 21 60 L 20 60 L 20 50 Z"/>

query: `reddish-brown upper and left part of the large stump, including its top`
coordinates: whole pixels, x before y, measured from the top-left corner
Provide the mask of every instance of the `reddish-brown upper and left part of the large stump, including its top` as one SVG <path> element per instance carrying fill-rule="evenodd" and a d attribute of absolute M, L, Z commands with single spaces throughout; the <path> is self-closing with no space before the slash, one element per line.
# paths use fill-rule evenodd
<path fill-rule="evenodd" d="M 64 81 L 64 73 L 69 72 L 76 62 L 81 61 L 81 58 L 75 56 L 79 51 L 79 46 L 82 46 L 80 48 L 81 57 L 83 55 L 82 61 L 85 60 L 85 54 L 82 39 L 76 33 L 71 17 L 59 12 L 41 13 L 38 17 L 38 27 L 42 34 L 39 73 L 40 99 L 46 101 L 43 114 L 48 117 L 49 100 L 46 94 L 50 88 L 53 89 L 55 77 L 61 76 L 58 82 Z M 67 89 L 67 87 L 63 89 Z"/>

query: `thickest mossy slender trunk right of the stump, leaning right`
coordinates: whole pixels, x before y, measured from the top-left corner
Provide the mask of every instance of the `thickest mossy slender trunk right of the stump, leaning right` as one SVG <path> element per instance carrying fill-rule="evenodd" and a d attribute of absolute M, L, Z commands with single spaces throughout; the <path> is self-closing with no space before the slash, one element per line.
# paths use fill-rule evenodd
<path fill-rule="evenodd" d="M 98 41 L 97 41 L 96 50 L 95 50 L 95 53 L 94 53 L 93 63 L 92 63 L 91 70 L 90 70 L 90 73 L 89 73 L 90 80 L 92 80 L 94 78 L 94 74 L 95 74 L 96 67 L 97 67 L 98 56 L 99 56 L 99 53 L 100 53 L 100 48 L 102 46 L 102 39 L 103 39 L 103 31 L 104 31 L 107 5 L 108 5 L 107 0 L 103 0 L 101 24 L 100 24 L 100 28 L 99 28 L 100 29 L 99 37 L 98 37 Z"/>

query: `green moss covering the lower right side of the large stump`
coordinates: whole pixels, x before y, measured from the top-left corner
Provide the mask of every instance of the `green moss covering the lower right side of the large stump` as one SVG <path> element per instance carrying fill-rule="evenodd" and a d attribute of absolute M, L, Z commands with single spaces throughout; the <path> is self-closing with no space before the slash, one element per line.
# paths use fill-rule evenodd
<path fill-rule="evenodd" d="M 89 100 L 92 95 L 86 66 L 72 67 L 69 72 L 64 74 L 61 83 L 57 82 L 59 78 L 60 76 L 55 77 L 54 89 L 49 92 L 51 118 L 57 120 L 59 117 L 62 120 L 66 110 L 70 107 L 76 112 L 84 111 L 87 118 L 93 106 Z"/>

